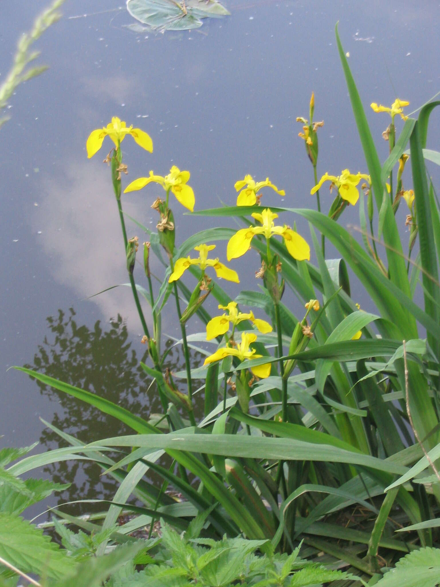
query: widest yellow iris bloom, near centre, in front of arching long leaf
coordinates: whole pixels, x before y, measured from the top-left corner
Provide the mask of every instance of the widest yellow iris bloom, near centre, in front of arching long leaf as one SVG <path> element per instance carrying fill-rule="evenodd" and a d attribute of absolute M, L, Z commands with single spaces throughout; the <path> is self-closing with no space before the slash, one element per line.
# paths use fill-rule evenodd
<path fill-rule="evenodd" d="M 252 217 L 258 220 L 258 222 L 261 222 L 262 226 L 242 228 L 229 239 L 228 249 L 226 251 L 228 261 L 244 255 L 249 250 L 249 247 L 251 247 L 252 238 L 256 234 L 263 234 L 266 239 L 269 239 L 272 235 L 279 235 L 283 237 L 287 251 L 289 251 L 294 259 L 298 261 L 310 259 L 310 247 L 307 242 L 297 232 L 292 230 L 292 228 L 286 225 L 275 226 L 273 220 L 278 218 L 278 214 L 271 212 L 270 208 L 265 208 L 261 214 L 259 212 L 253 212 Z"/>

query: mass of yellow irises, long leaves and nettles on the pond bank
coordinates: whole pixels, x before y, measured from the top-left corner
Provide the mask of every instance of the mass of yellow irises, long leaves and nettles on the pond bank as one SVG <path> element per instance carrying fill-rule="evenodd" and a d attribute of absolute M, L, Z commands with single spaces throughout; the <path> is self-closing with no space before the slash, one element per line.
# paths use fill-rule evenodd
<path fill-rule="evenodd" d="M 265 210 L 266 219 L 276 218 L 276 212 L 287 219 L 289 226 L 277 225 L 272 230 L 268 225 L 265 232 L 253 222 L 263 224 L 262 207 L 256 205 L 253 180 L 246 176 L 235 187 L 238 191 L 251 185 L 245 194 L 250 205 L 194 215 L 235 217 L 249 228 L 244 233 L 223 227 L 202 230 L 176 247 L 176 217 L 168 207 L 168 197 L 171 191 L 192 211 L 194 194 L 187 185 L 189 172 L 173 167 L 168 176 L 135 180 L 126 191 L 152 181 L 167 194 L 166 201 L 155 203 L 160 212 L 158 232 L 144 228 L 150 239 L 144 247 L 148 289 L 134 281 L 138 242 L 137 238 L 127 238 L 121 203 L 121 172 L 125 167 L 120 147 L 126 134 L 131 134 L 140 146 L 151 150 L 151 138 L 140 129 L 125 127 L 117 117 L 106 129 L 90 134 L 89 157 L 100 149 L 106 136 L 117 146 L 109 162 L 127 252 L 130 284 L 124 285 L 133 292 L 145 333 L 143 342 L 150 353 L 151 364 L 141 363 L 141 367 L 155 380 L 163 413 L 159 417 L 151 414 L 147 420 L 97 394 L 20 368 L 40 383 L 118 419 L 134 432 L 86 445 L 49 424 L 66 447 L 4 464 L 0 483 L 17 496 L 9 500 L 14 504 L 36 498 L 32 486 L 21 476 L 57 461 L 94 462 L 119 482 L 110 506 L 102 501 L 104 511 L 93 521 L 57 510 L 63 523 L 82 529 L 73 533 L 63 528 L 61 521 L 53 522 L 65 546 L 56 550 L 57 556 L 82 565 L 65 585 L 81 581 L 99 584 L 111 574 L 113 564 L 116 574 L 110 585 L 231 585 L 244 581 L 248 585 L 300 587 L 333 580 L 336 576 L 329 568 L 344 568 L 350 573 L 339 575 L 338 580 L 354 581 L 352 575 L 356 573 L 356 580 L 371 579 L 387 587 L 400 585 L 402 575 L 409 585 L 414 584 L 415 576 L 421 578 L 420 585 L 434 587 L 438 582 L 439 549 L 435 547 L 440 544 L 440 534 L 435 518 L 440 513 L 440 474 L 436 466 L 440 459 L 440 208 L 434 184 L 427 179 L 424 153 L 429 114 L 440 102 L 422 107 L 417 120 L 406 119 L 401 107 L 407 103 L 403 100 L 397 99 L 391 108 L 372 104 L 375 112 L 392 116 L 385 131 L 390 155 L 381 163 L 337 31 L 336 39 L 368 174 L 344 170 L 340 176 L 323 176 L 320 183 L 317 181 L 319 125 L 313 125 L 312 96 L 310 124 L 300 120 L 304 124 L 301 136 L 313 165 L 312 191 L 317 194 L 319 210 L 271 206 L 272 215 Z M 394 126 L 396 113 L 405 119 L 399 136 Z M 312 140 L 312 146 L 307 139 Z M 408 143 L 414 193 L 402 185 Z M 436 157 L 431 154 L 433 159 Z M 405 183 L 409 163 L 406 169 Z M 358 205 L 364 246 L 337 222 L 348 201 L 357 205 L 356 185 L 363 178 L 367 184 Z M 331 181 L 337 188 L 327 215 L 320 211 L 319 187 L 323 181 Z M 262 184 L 280 193 L 269 180 Z M 400 205 L 408 205 L 411 212 L 407 217 L 408 245 L 400 235 Z M 295 227 L 297 215 L 309 221 L 316 265 L 307 260 L 309 245 L 290 228 Z M 320 241 L 316 231 L 321 233 Z M 282 241 L 277 241 L 276 235 Z M 298 242 L 302 239 L 298 249 L 292 248 L 296 238 Z M 218 336 L 210 336 L 209 342 L 205 331 L 187 336 L 185 322 L 194 313 L 212 326 L 212 317 L 202 305 L 208 295 L 230 308 L 229 316 L 232 311 L 239 312 L 238 306 L 228 306 L 232 300 L 226 291 L 205 275 L 206 268 L 214 268 L 225 279 L 229 275 L 236 281 L 235 271 L 219 259 L 207 259 L 212 246 L 204 243 L 228 240 L 228 257 L 233 259 L 248 251 L 246 244 L 250 247 L 251 239 L 248 254 L 258 255 L 263 281 L 258 291 L 242 291 L 233 302 L 264 311 L 272 326 L 259 329 L 257 337 L 252 330 L 255 316 L 248 313 L 245 319 L 243 312 L 233 323 L 232 333 L 223 330 Z M 327 241 L 339 251 L 339 259 L 326 259 Z M 188 257 L 195 247 L 199 257 Z M 413 249 L 417 251 L 415 261 L 411 259 Z M 150 251 L 165 266 L 155 297 Z M 347 266 L 373 301 L 374 313 L 360 311 L 357 299 L 351 298 Z M 194 291 L 181 279 L 186 269 L 197 279 Z M 296 316 L 283 302 L 287 291 L 307 304 L 304 316 Z M 161 312 L 171 303 L 172 295 L 182 332 L 178 343 L 185 355 L 182 372 L 165 369 L 168 350 L 161 351 Z M 140 296 L 151 306 L 152 332 Z M 182 302 L 188 304 L 183 312 Z M 233 340 L 234 334 L 242 336 L 241 346 Z M 214 345 L 212 353 L 199 343 Z M 204 366 L 191 369 L 189 345 L 207 357 Z M 196 421 L 194 406 L 199 396 L 193 385 L 200 379 L 205 381 L 201 389 L 205 394 L 204 417 Z M 184 386 L 187 393 L 181 390 Z M 115 451 L 119 451 L 116 456 Z M 20 456 L 16 454 L 15 458 Z M 152 473 L 160 478 L 160 484 L 151 480 Z M 35 487 L 40 495 L 50 489 L 40 486 L 38 490 L 38 484 Z M 170 494 L 168 488 L 182 497 Z M 127 505 L 133 495 L 141 506 Z M 13 515 L 21 511 L 17 507 Z M 133 519 L 117 526 L 123 511 L 133 512 Z M 133 532 L 146 526 L 151 529 L 160 519 L 161 541 L 137 544 Z M 9 523 L 9 518 L 5 520 Z M 16 526 L 20 532 L 28 528 L 21 521 Z M 183 539 L 177 531 L 185 532 Z M 36 535 L 32 534 L 33 538 L 37 541 Z M 42 540 L 39 534 L 39 545 Z M 134 544 L 125 544 L 130 542 Z M 300 545 L 300 564 L 304 566 L 298 570 L 294 567 Z M 256 549 L 259 556 L 255 556 Z M 42 573 L 26 556 L 20 559 L 13 550 L 10 556 L 10 565 L 13 561 L 21 563 L 20 571 Z M 137 560 L 147 566 L 134 574 Z M 103 561 L 108 562 L 108 568 Z M 317 564 L 325 564 L 327 570 Z M 53 575 L 55 569 L 48 562 L 46 575 L 51 568 Z M 292 569 L 295 572 L 290 576 Z M 56 579 L 52 575 L 50 578 Z M 43 573 L 41 576 L 45 580 Z"/>

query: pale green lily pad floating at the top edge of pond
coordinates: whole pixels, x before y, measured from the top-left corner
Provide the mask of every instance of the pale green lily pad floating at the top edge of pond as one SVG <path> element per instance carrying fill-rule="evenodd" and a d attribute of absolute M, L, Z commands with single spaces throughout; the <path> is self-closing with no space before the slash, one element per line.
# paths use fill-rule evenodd
<path fill-rule="evenodd" d="M 138 21 L 158 31 L 188 31 L 202 19 L 231 14 L 218 0 L 127 0 L 127 10 Z"/>

